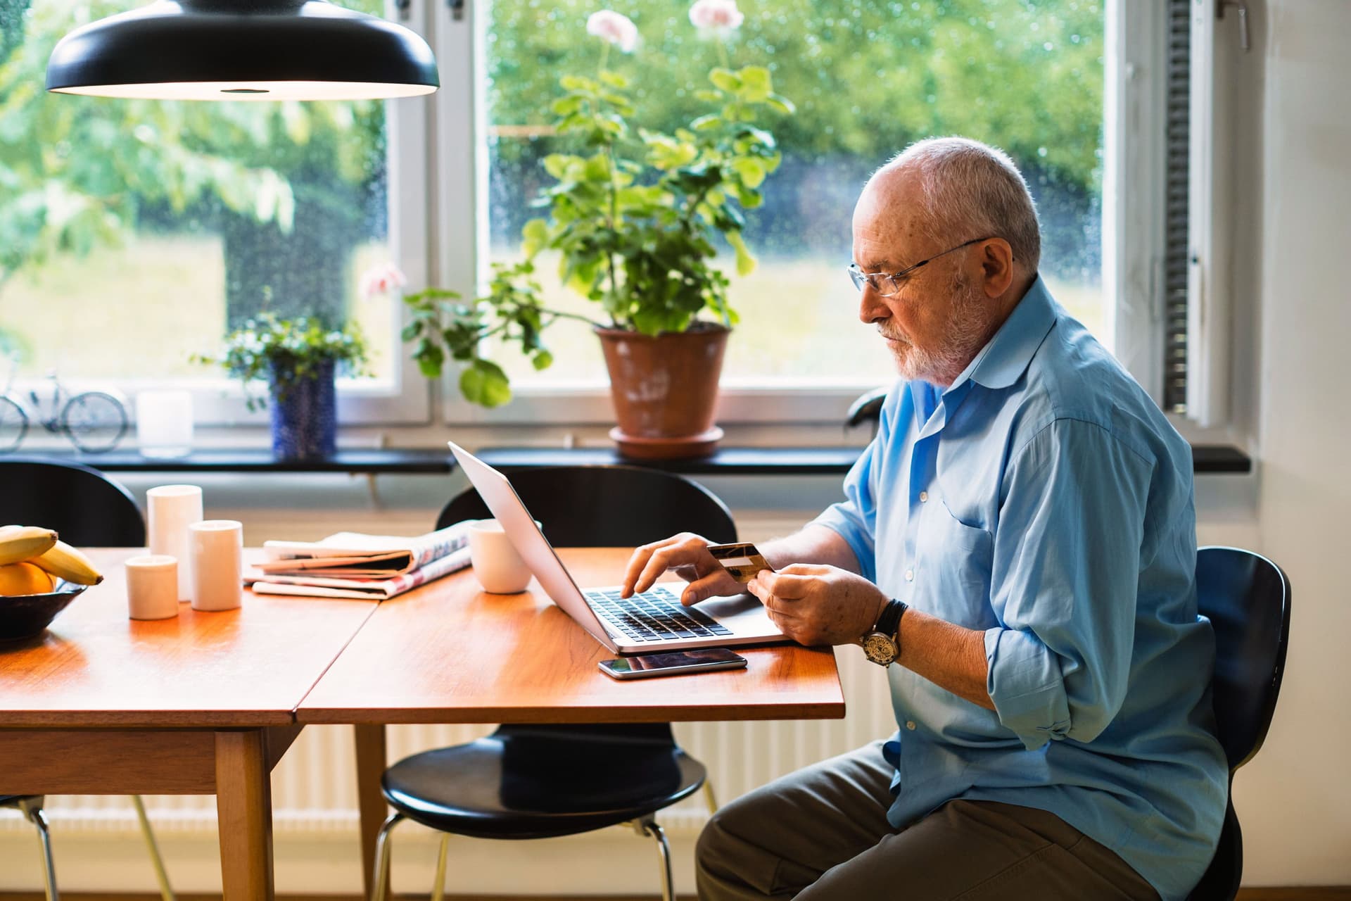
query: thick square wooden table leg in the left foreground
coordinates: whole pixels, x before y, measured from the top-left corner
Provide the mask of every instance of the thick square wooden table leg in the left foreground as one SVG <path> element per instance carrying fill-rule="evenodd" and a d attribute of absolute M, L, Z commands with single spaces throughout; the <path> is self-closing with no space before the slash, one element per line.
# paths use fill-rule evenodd
<path fill-rule="evenodd" d="M 262 729 L 216 732 L 223 901 L 273 901 L 272 777 Z"/>

